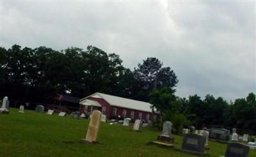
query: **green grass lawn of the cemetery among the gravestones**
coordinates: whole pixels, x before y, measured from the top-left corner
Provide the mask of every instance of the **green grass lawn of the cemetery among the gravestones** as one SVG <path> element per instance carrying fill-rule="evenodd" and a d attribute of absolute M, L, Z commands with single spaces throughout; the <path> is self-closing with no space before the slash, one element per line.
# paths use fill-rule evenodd
<path fill-rule="evenodd" d="M 161 134 L 151 127 L 137 132 L 131 131 L 132 126 L 101 122 L 99 144 L 84 144 L 80 141 L 86 137 L 88 119 L 18 111 L 10 108 L 10 114 L 0 114 L 0 156 L 195 156 L 176 150 L 181 147 L 182 135 L 173 135 L 174 149 L 147 145 Z M 210 156 L 225 155 L 227 144 L 210 140 L 209 146 L 205 153 Z M 253 156 L 256 151 L 251 149 Z"/>

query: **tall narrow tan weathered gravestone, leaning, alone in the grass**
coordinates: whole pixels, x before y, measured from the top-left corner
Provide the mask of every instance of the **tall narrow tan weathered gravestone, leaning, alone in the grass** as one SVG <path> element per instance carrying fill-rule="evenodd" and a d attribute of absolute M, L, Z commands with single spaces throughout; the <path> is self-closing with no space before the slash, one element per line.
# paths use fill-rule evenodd
<path fill-rule="evenodd" d="M 99 124 L 100 124 L 101 113 L 99 110 L 94 110 L 92 112 L 92 117 L 90 119 L 90 124 L 87 130 L 86 138 L 82 139 L 82 142 L 96 142 Z"/>

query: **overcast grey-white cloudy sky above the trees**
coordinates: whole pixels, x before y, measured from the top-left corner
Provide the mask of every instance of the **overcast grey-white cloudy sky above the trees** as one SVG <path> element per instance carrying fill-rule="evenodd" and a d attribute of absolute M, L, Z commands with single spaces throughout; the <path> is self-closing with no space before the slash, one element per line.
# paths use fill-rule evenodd
<path fill-rule="evenodd" d="M 0 46 L 54 50 L 88 45 L 170 67 L 176 96 L 228 102 L 256 94 L 255 1 L 4 1 Z"/>

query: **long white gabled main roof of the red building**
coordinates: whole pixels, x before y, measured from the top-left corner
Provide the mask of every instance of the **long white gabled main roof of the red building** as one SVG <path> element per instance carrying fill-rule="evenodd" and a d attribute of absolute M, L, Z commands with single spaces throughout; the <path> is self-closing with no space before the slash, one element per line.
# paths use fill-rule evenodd
<path fill-rule="evenodd" d="M 94 93 L 90 96 L 87 96 L 86 98 L 81 99 L 80 101 L 83 102 L 89 97 L 102 98 L 105 101 L 107 101 L 109 105 L 115 106 L 115 107 L 123 107 L 123 108 L 129 108 L 134 110 L 141 110 L 145 112 L 152 112 L 152 108 L 150 108 L 152 104 L 150 103 L 122 98 L 119 96 L 112 96 L 112 95 L 103 94 L 103 93 Z"/>

